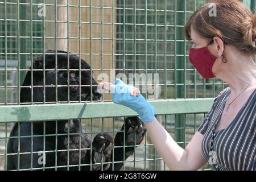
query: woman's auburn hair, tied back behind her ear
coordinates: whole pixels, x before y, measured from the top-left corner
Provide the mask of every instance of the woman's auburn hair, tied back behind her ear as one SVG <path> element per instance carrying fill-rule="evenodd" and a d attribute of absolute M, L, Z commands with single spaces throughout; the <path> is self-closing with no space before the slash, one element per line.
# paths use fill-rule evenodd
<path fill-rule="evenodd" d="M 214 4 L 210 4 L 214 3 Z M 216 6 L 216 16 L 209 12 Z M 203 38 L 222 39 L 241 52 L 254 55 L 256 38 L 256 16 L 238 0 L 213 0 L 200 7 L 185 24 L 185 37 L 191 40 L 191 26 Z"/>

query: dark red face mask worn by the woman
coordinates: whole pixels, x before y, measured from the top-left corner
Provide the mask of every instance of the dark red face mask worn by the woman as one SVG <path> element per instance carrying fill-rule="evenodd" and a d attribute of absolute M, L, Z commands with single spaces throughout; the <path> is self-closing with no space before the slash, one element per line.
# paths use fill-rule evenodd
<path fill-rule="evenodd" d="M 217 57 L 210 53 L 208 46 L 203 48 L 191 48 L 189 49 L 189 60 L 204 78 L 214 78 L 212 72 L 213 64 Z"/>

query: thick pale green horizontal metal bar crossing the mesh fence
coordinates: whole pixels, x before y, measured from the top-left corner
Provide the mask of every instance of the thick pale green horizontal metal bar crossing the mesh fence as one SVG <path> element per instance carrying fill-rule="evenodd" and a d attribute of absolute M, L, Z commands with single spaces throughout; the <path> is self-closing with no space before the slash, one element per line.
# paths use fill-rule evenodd
<path fill-rule="evenodd" d="M 149 101 L 156 115 L 193 114 L 209 111 L 213 98 Z M 95 111 L 98 112 L 95 112 Z M 0 123 L 18 121 L 51 121 L 75 118 L 109 118 L 133 116 L 137 113 L 125 106 L 105 103 L 0 106 Z"/>

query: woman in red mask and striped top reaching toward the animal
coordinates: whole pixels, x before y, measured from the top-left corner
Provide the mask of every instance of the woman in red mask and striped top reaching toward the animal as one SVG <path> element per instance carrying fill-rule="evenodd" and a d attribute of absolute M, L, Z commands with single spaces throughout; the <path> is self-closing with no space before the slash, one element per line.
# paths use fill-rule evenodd
<path fill-rule="evenodd" d="M 172 139 L 155 118 L 154 107 L 141 94 L 131 96 L 133 87 L 121 80 L 111 86 L 113 102 L 137 111 L 170 169 L 196 170 L 208 162 L 216 170 L 255 170 L 256 16 L 240 1 L 211 3 L 217 16 L 209 16 L 212 6 L 205 5 L 185 25 L 185 36 L 193 41 L 189 60 L 201 76 L 220 78 L 229 87 L 214 100 L 187 147 Z M 119 89 L 129 92 L 116 92 Z"/>

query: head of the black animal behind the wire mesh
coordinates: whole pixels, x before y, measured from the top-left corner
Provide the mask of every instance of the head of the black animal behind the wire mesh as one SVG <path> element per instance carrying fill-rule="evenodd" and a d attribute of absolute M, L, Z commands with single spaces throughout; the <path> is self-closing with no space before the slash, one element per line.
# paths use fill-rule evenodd
<path fill-rule="evenodd" d="M 47 51 L 43 56 L 39 56 L 34 60 L 33 64 L 33 85 L 43 85 L 44 83 L 44 57 L 45 57 L 45 68 L 53 69 L 46 70 L 45 82 L 46 82 L 46 102 L 56 101 L 56 85 L 57 88 L 57 101 L 68 101 L 68 53 L 64 51 Z M 58 70 L 56 73 L 56 63 Z M 90 66 L 81 59 L 81 93 L 80 93 L 80 72 L 79 72 L 80 59 L 76 55 L 69 54 L 69 101 L 79 101 L 81 95 L 81 101 L 91 100 L 91 88 L 92 88 L 92 100 L 100 100 L 102 94 L 97 90 L 97 82 L 91 77 Z M 30 68 L 31 69 L 31 68 Z M 41 69 L 36 71 L 36 69 Z M 76 71 L 72 70 L 76 69 Z M 57 84 L 56 84 L 57 77 Z M 92 83 L 91 83 L 92 80 Z M 31 71 L 27 72 L 23 86 L 30 86 L 31 82 Z M 73 86 L 76 85 L 76 86 Z M 91 85 L 95 85 L 92 86 Z M 52 86 L 52 87 L 48 87 Z M 33 88 L 33 101 L 43 101 L 43 88 Z M 31 102 L 31 88 L 22 88 L 20 92 L 20 102 Z"/>

